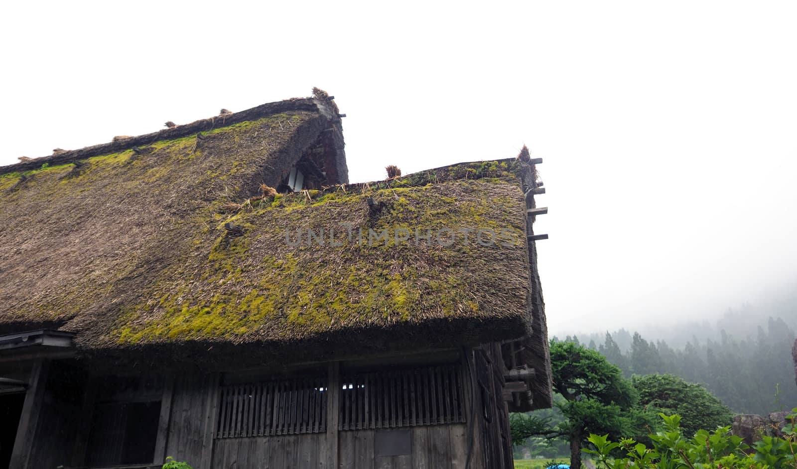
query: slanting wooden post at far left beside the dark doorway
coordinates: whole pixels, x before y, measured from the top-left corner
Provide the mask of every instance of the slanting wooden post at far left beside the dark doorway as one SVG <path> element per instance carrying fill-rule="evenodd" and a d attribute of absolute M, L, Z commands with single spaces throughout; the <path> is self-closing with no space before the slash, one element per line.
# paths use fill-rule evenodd
<path fill-rule="evenodd" d="M 41 408 L 44 407 L 48 368 L 48 361 L 37 360 L 33 362 L 33 367 L 30 369 L 28 391 L 25 393 L 25 403 L 22 405 L 22 416 L 17 426 L 17 439 L 14 440 L 9 467 L 28 469 L 36 427 L 39 423 Z"/>

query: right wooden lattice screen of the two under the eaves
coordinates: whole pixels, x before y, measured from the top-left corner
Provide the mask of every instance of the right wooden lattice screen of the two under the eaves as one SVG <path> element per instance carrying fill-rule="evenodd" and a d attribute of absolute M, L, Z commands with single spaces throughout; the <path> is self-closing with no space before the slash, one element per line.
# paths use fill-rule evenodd
<path fill-rule="evenodd" d="M 465 421 L 458 366 L 359 373 L 342 382 L 340 430 Z"/>

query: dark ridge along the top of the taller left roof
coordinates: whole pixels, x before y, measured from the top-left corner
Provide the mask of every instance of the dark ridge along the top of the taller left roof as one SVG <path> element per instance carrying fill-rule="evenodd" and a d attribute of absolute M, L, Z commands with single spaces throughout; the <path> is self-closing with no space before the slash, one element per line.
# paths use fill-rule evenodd
<path fill-rule="evenodd" d="M 228 127 L 235 123 L 261 119 L 262 117 L 279 114 L 285 111 L 319 112 L 328 119 L 340 119 L 336 113 L 332 112 L 332 106 L 334 106 L 334 103 L 332 103 L 332 106 L 328 105 L 328 102 L 331 102 L 331 99 L 332 98 L 328 98 L 327 100 L 320 100 L 318 98 L 291 98 L 290 100 L 261 104 L 260 106 L 246 109 L 245 111 L 214 115 L 207 119 L 198 119 L 192 123 L 178 125 L 152 132 L 150 134 L 116 139 L 115 141 L 100 143 L 99 145 L 93 145 L 91 147 L 84 147 L 77 150 L 60 151 L 57 154 L 51 154 L 6 166 L 0 166 L 0 174 L 13 173 L 16 171 L 37 170 L 44 163 L 48 163 L 51 166 L 69 164 L 80 159 L 90 158 L 100 154 L 115 153 L 118 151 L 128 150 L 132 147 L 151 145 L 151 143 L 155 143 L 163 139 L 179 139 L 201 131 L 210 131 L 218 127 Z"/>

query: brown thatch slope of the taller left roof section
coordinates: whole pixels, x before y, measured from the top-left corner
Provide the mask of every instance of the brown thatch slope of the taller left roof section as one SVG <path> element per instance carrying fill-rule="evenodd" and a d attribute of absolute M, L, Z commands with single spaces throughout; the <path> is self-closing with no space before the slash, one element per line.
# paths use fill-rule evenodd
<path fill-rule="evenodd" d="M 214 207 L 275 185 L 320 134 L 308 111 L 136 150 L 0 172 L 0 330 L 113 319 L 213 229 Z M 18 165 L 17 165 L 18 166 Z M 40 166 L 41 167 L 41 166 Z M 2 171 L 0 170 L 0 171 Z"/>

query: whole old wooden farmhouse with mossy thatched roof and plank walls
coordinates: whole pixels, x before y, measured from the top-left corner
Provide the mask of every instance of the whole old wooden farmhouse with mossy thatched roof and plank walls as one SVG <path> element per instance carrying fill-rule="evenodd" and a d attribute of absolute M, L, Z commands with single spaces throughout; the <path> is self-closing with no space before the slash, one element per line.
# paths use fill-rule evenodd
<path fill-rule="evenodd" d="M 541 161 L 348 184 L 342 117 L 0 167 L 0 469 L 512 467 L 552 399 Z"/>

